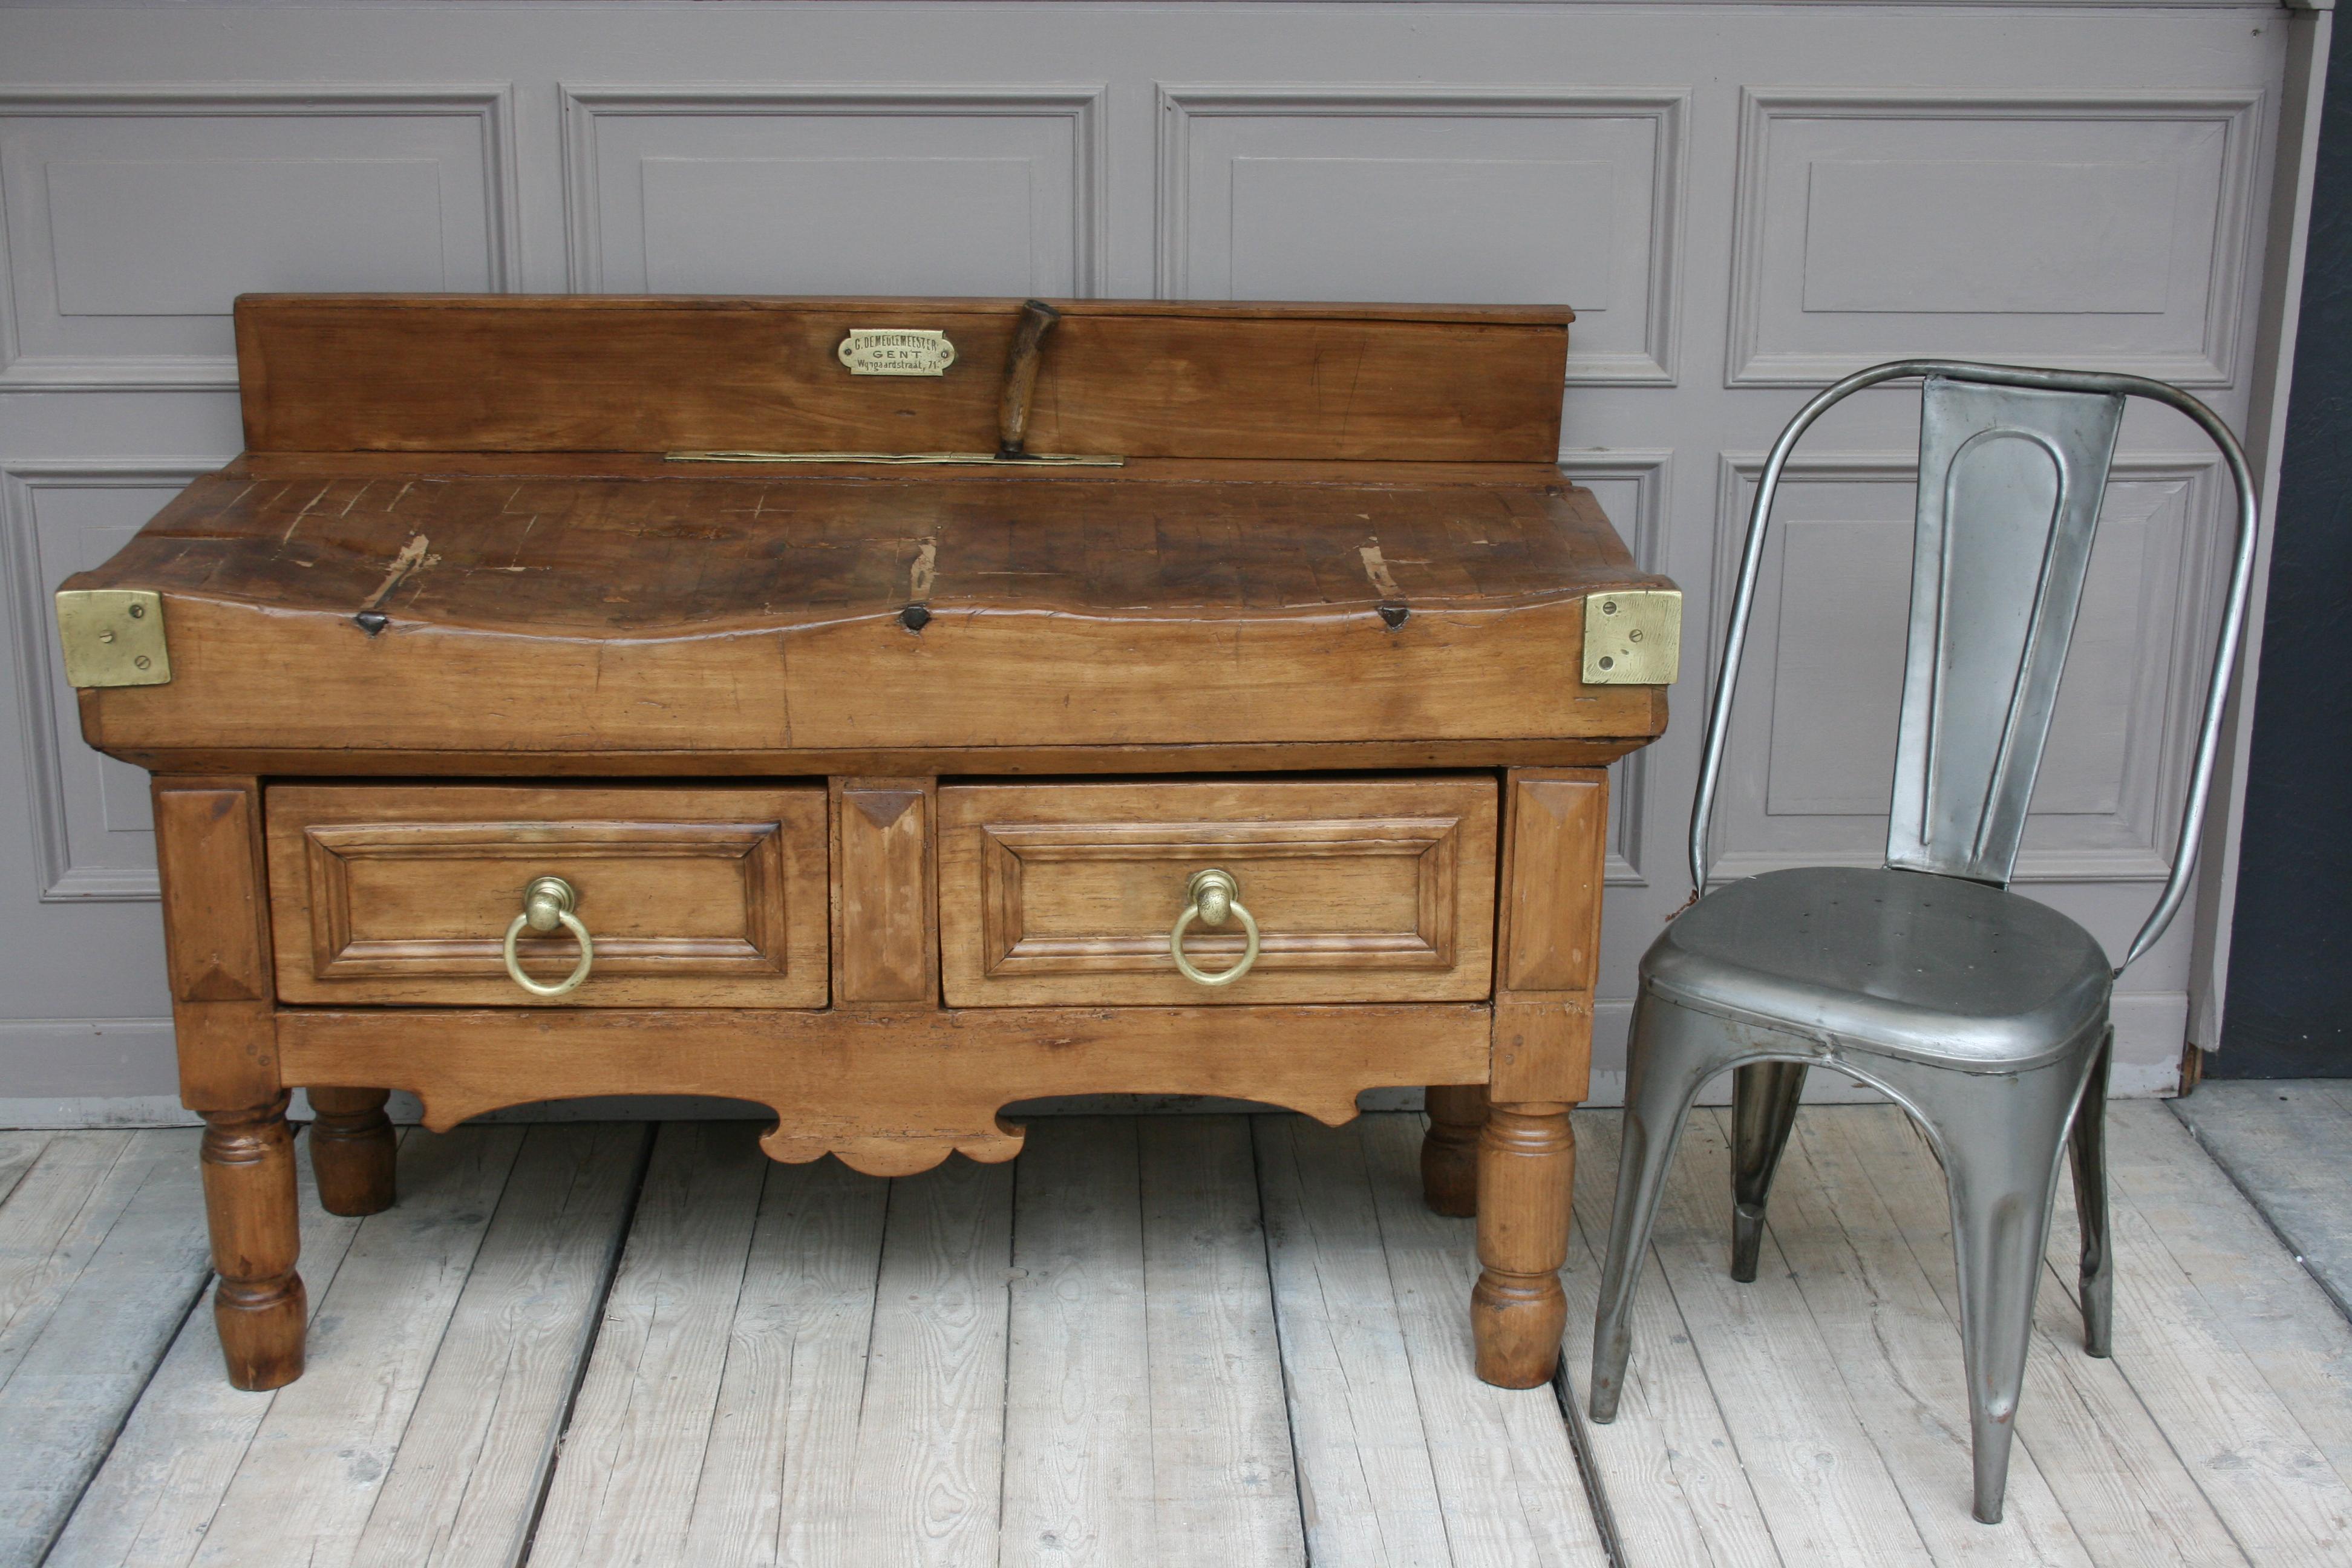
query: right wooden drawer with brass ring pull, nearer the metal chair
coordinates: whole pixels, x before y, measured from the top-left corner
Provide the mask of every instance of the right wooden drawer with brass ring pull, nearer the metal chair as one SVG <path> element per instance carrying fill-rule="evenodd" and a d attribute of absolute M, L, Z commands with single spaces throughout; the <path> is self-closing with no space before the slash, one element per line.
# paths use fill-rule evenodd
<path fill-rule="evenodd" d="M 1470 1001 L 1494 971 L 1496 780 L 948 785 L 938 943 L 948 1006 Z M 1207 987 L 1169 929 L 1223 867 L 1258 922 L 1251 971 Z M 1195 924 L 1221 971 L 1237 922 Z"/>

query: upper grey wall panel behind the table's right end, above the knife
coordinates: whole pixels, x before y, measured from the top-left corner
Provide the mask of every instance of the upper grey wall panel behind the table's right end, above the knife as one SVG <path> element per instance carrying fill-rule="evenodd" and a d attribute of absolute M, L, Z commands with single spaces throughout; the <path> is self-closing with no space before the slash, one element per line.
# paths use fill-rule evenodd
<path fill-rule="evenodd" d="M 1679 92 L 1162 87 L 1160 294 L 1566 303 L 1569 381 L 1675 381 Z"/>

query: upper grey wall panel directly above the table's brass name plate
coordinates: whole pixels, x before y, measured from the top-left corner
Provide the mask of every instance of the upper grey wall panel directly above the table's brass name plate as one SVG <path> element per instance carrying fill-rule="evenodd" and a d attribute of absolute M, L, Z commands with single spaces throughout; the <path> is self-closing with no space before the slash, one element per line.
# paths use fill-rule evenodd
<path fill-rule="evenodd" d="M 567 87 L 564 115 L 576 289 L 1101 292 L 1098 87 Z"/>

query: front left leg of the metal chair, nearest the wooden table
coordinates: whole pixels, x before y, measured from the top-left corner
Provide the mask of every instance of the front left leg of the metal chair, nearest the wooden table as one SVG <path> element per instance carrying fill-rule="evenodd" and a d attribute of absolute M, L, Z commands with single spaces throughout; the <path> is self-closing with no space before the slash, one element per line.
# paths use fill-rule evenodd
<path fill-rule="evenodd" d="M 1618 1197 L 1609 1218 L 1609 1265 L 1602 1269 L 1592 1319 L 1592 1420 L 1616 1420 L 1632 1354 L 1632 1293 L 1642 1284 L 1649 1229 L 1658 1220 L 1665 1168 L 1691 1114 L 1698 1086 L 1715 1077 L 1738 1046 L 1724 1027 L 1691 1009 L 1644 992 L 1632 1009 L 1625 1044 L 1625 1117 L 1618 1150 Z"/>

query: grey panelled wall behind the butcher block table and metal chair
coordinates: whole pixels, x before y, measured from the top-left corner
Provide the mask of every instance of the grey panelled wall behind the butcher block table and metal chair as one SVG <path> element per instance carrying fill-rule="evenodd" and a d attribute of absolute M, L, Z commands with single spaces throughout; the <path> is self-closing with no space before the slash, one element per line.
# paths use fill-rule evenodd
<path fill-rule="evenodd" d="M 1811 388 L 1940 353 L 2180 381 L 2274 468 L 2324 33 L 2096 0 L 0 5 L 0 1100 L 172 1095 L 143 788 L 78 738 L 47 592 L 238 449 L 245 289 L 1576 306 L 1562 456 L 1693 628 L 1675 729 L 1618 769 L 1613 1100 L 1762 451 Z M 1722 875 L 1884 846 L 1915 418 L 1856 397 L 1783 491 Z M 2110 947 L 2166 872 L 2227 489 L 2133 411 L 2018 860 Z M 2213 1044 L 2216 931 L 2225 877 L 2117 997 L 2119 1091 L 2173 1084 L 2192 1006 Z"/>

